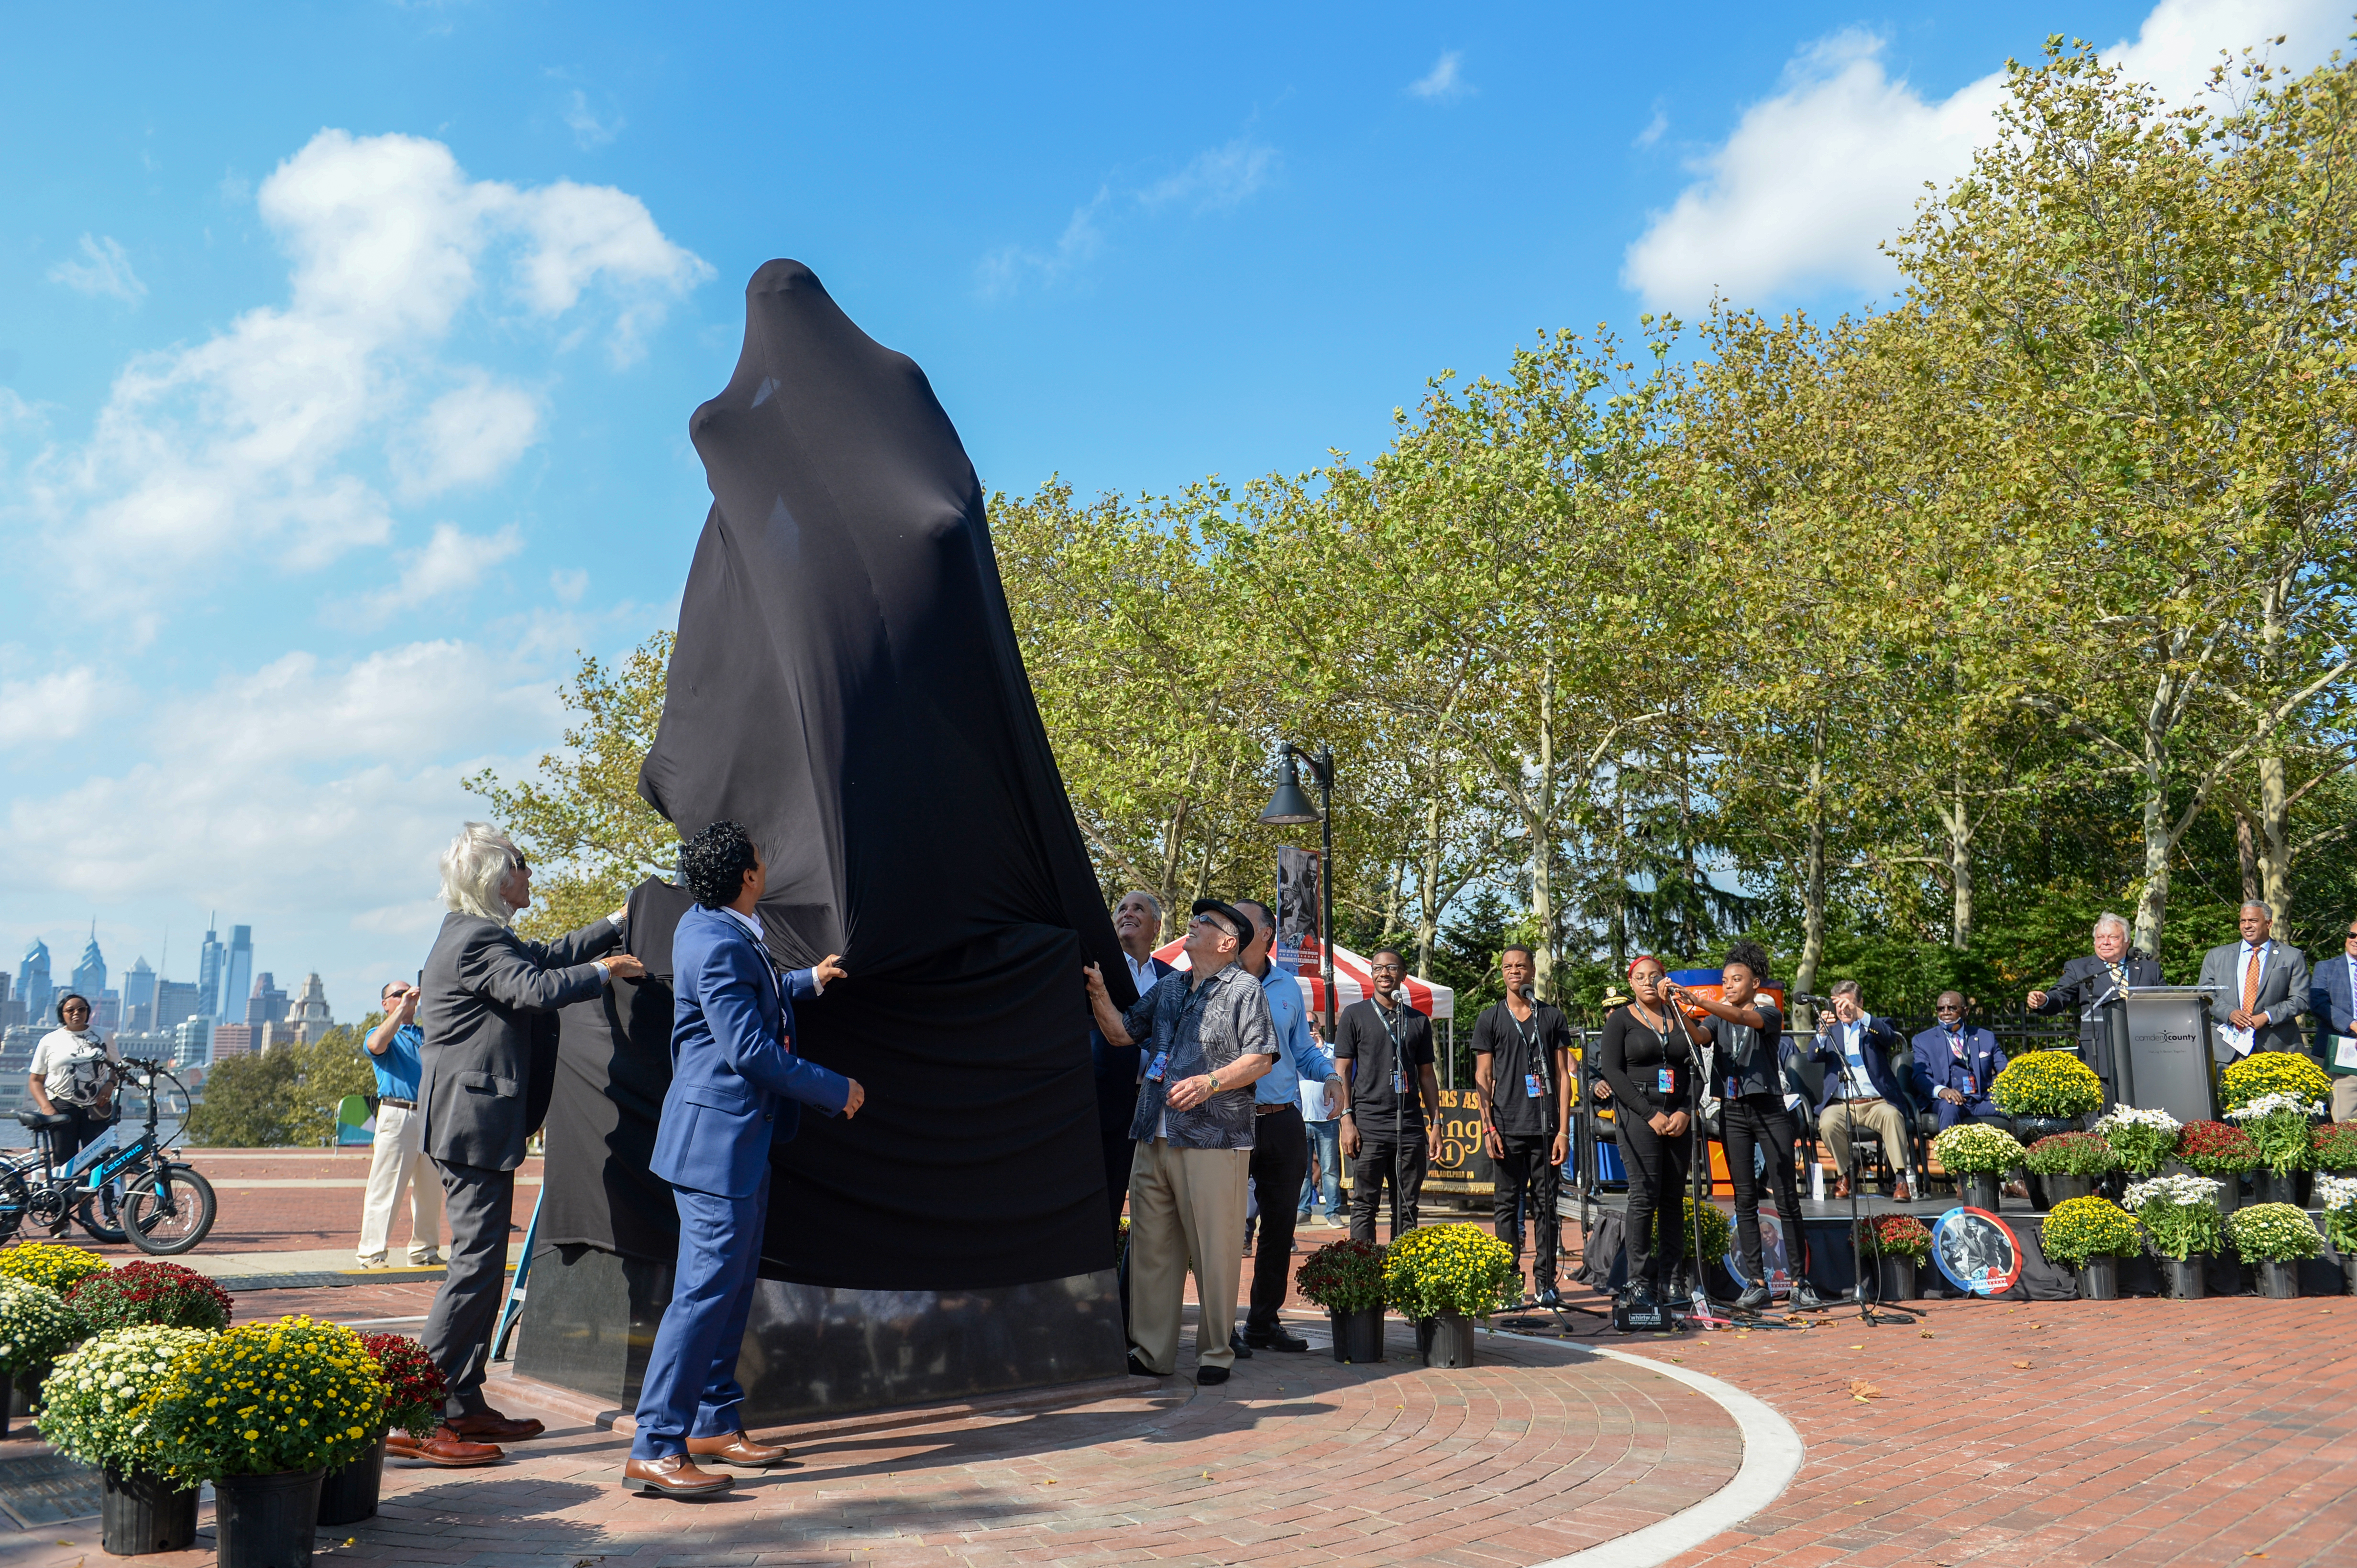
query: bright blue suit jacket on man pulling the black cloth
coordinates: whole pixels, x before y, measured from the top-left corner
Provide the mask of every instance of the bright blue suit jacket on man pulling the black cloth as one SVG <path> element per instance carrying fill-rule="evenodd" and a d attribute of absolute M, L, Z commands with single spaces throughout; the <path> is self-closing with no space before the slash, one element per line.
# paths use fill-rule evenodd
<path fill-rule="evenodd" d="M 851 1081 L 794 1055 L 794 998 L 818 996 L 811 970 L 780 979 L 726 909 L 679 916 L 672 970 L 672 1088 L 648 1168 L 672 1187 L 747 1198 L 771 1144 L 801 1128 L 799 1107 L 839 1116 Z"/>

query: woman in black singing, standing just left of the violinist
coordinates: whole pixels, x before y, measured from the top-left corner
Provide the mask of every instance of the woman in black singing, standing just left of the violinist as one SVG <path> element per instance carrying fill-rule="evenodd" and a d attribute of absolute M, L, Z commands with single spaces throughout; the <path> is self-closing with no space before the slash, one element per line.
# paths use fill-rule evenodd
<path fill-rule="evenodd" d="M 1612 1125 L 1629 1163 L 1629 1300 L 1650 1307 L 1685 1260 L 1688 1140 L 1695 1116 L 1695 1064 L 1706 1036 L 1662 996 L 1662 961 L 1629 963 L 1626 1008 L 1605 1017 L 1596 1071 L 1612 1085 Z M 1655 1227 L 1662 1241 L 1655 1245 Z"/>

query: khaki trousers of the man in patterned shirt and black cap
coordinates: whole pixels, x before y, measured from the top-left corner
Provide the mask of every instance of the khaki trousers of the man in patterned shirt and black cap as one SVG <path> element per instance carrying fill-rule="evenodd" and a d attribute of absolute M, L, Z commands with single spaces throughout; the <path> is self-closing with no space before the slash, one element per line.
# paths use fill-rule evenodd
<path fill-rule="evenodd" d="M 1178 1370 L 1186 1271 L 1195 1260 L 1197 1366 L 1235 1366 L 1235 1293 L 1244 1283 L 1244 1184 L 1252 1149 L 1171 1149 L 1141 1137 L 1129 1156 L 1129 1340 L 1153 1370 Z M 1289 1196 L 1289 1194 L 1287 1194 Z"/>

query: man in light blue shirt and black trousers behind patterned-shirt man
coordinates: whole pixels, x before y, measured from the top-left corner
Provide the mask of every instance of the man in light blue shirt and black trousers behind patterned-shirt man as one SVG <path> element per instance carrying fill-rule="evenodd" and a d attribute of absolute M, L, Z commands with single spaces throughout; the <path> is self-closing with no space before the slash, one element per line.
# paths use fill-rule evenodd
<path fill-rule="evenodd" d="M 1301 1078 L 1334 1083 L 1334 1064 L 1310 1038 L 1308 1008 L 1301 1005 L 1301 979 L 1289 963 L 1270 958 L 1277 918 L 1268 904 L 1237 899 L 1252 916 L 1252 942 L 1244 944 L 1244 972 L 1261 982 L 1268 996 L 1268 1022 L 1277 1029 L 1277 1064 L 1252 1085 L 1252 1187 L 1261 1194 L 1261 1243 L 1252 1255 L 1252 1307 L 1244 1333 L 1233 1337 L 1237 1356 L 1256 1349 L 1306 1351 L 1310 1347 L 1277 1321 L 1285 1309 L 1285 1285 L 1294 1274 L 1294 1198 L 1310 1170 L 1310 1135 L 1301 1121 Z"/>

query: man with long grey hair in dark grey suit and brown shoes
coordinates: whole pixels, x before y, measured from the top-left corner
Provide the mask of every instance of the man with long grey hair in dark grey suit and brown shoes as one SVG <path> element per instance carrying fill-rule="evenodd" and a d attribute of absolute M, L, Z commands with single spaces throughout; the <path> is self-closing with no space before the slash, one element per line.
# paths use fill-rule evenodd
<path fill-rule="evenodd" d="M 403 1453 L 434 1464 L 486 1464 L 500 1457 L 495 1443 L 542 1431 L 540 1422 L 507 1420 L 483 1401 L 483 1363 L 507 1276 L 516 1165 L 556 1083 L 556 1010 L 646 968 L 615 951 L 625 909 L 556 942 L 526 942 L 509 930 L 533 902 L 533 871 L 507 833 L 483 822 L 469 822 L 450 843 L 441 878 L 450 913 L 422 986 L 417 1114 L 448 1198 L 450 1274 L 420 1337 L 450 1380 L 450 1398 L 434 1436 Z"/>

